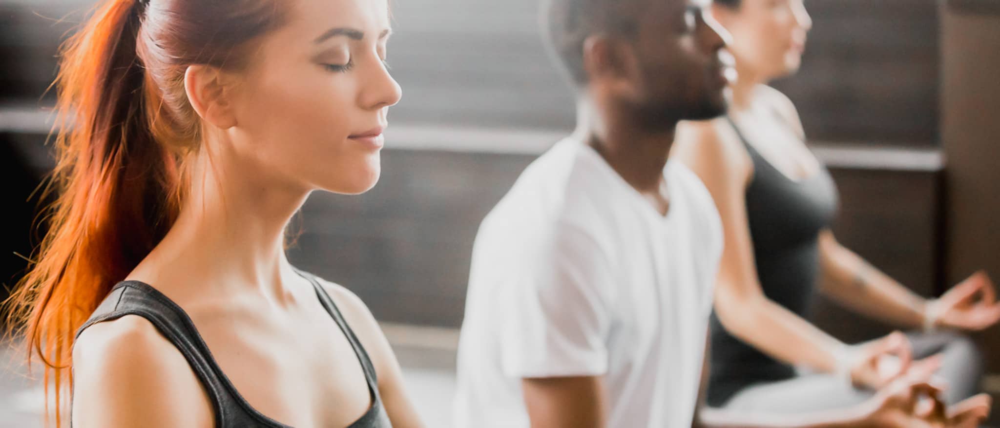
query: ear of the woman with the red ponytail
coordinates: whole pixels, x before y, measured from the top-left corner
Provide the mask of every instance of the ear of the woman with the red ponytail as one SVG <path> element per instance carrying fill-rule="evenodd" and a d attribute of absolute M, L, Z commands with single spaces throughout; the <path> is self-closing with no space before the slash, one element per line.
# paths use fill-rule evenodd
<path fill-rule="evenodd" d="M 193 65 L 184 71 L 184 91 L 191 107 L 203 121 L 222 130 L 236 126 L 227 80 L 224 72 L 211 66 Z"/>

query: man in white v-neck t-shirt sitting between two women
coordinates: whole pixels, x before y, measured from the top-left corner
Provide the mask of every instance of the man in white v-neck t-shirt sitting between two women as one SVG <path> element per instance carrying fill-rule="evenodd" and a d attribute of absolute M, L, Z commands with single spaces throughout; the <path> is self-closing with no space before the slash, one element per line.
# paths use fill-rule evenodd
<path fill-rule="evenodd" d="M 577 89 L 577 130 L 528 167 L 479 229 L 455 428 L 703 422 L 722 226 L 708 191 L 668 153 L 679 121 L 725 111 L 726 36 L 705 6 L 547 4 L 550 47 Z M 862 416 L 871 415 L 814 426 L 860 426 Z"/>

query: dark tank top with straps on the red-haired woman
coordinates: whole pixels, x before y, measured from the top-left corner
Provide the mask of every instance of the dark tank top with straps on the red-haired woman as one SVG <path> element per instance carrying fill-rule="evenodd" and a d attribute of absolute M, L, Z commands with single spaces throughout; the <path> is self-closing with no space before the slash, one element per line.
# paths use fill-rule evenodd
<path fill-rule="evenodd" d="M 347 325 L 333 299 L 316 278 L 305 272 L 300 273 L 312 283 L 320 303 L 340 326 L 365 372 L 372 406 L 348 428 L 391 428 L 392 425 L 379 396 L 375 368 L 368 358 L 368 353 L 361 346 L 354 331 Z M 118 319 L 125 315 L 139 315 L 149 320 L 184 355 L 208 393 L 215 413 L 216 427 L 291 428 L 251 407 L 216 364 L 187 313 L 166 295 L 144 282 L 122 281 L 116 284 L 90 319 L 77 330 L 76 336 L 79 337 L 85 328 L 95 323 Z"/>

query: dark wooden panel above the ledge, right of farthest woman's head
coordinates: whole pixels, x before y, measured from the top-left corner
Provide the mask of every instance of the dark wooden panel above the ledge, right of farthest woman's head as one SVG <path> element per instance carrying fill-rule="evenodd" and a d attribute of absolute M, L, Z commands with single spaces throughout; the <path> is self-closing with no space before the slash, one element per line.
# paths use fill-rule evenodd
<path fill-rule="evenodd" d="M 938 16 L 933 0 L 812 0 L 800 72 L 777 87 L 813 138 L 938 142 Z"/>

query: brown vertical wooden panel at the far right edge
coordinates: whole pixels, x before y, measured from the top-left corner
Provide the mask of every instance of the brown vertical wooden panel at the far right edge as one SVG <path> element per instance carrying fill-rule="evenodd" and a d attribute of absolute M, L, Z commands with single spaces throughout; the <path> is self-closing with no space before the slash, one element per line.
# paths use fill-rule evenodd
<path fill-rule="evenodd" d="M 943 147 L 948 156 L 946 274 L 985 268 L 1000 279 L 1000 1 L 948 1 L 942 26 Z M 951 6 L 955 6 L 953 9 Z M 1000 327 L 977 335 L 1000 373 Z M 1000 391 L 994 390 L 994 402 Z M 992 423 L 1000 424 L 1000 412 Z"/>

